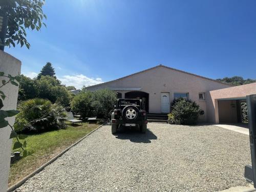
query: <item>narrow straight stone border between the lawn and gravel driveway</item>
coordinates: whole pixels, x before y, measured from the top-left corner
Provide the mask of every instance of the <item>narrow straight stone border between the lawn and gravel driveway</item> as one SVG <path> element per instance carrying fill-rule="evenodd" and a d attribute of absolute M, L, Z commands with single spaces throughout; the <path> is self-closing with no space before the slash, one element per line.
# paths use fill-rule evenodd
<path fill-rule="evenodd" d="M 45 163 L 44 165 L 40 166 L 39 168 L 37 168 L 36 170 L 34 170 L 34 172 L 32 172 L 31 174 L 29 174 L 28 176 L 26 176 L 25 178 L 23 178 L 22 180 L 18 181 L 17 183 L 15 183 L 14 185 L 10 186 L 7 189 L 7 192 L 11 192 L 13 190 L 15 190 L 16 188 L 20 187 L 22 184 L 24 184 L 29 178 L 33 177 L 35 174 L 39 173 L 42 169 L 44 169 L 46 166 L 50 165 L 53 161 L 55 161 L 56 159 L 58 159 L 60 156 L 62 156 L 63 154 L 65 154 L 67 151 L 70 150 L 71 147 L 77 145 L 79 142 L 81 142 L 83 139 L 85 139 L 87 136 L 91 135 L 93 132 L 95 132 L 96 130 L 98 130 L 100 127 L 102 127 L 105 124 L 102 124 L 100 126 L 98 126 L 95 130 L 93 130 L 92 132 L 90 132 L 89 134 L 87 134 L 86 136 L 82 137 L 80 140 L 76 141 L 74 144 L 72 144 L 71 146 L 69 146 L 68 148 L 66 148 L 66 150 L 62 151 L 60 154 L 56 155 L 54 158 L 52 158 L 51 160 L 49 160 L 47 163 Z"/>

